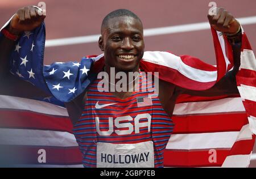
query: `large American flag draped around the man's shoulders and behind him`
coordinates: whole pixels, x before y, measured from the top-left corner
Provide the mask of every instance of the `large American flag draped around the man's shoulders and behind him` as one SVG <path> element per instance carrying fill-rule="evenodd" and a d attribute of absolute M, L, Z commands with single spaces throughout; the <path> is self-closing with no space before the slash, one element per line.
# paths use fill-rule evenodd
<path fill-rule="evenodd" d="M 213 29 L 212 33 L 217 67 L 207 65 L 197 58 L 179 57 L 168 52 L 145 52 L 141 67 L 145 71 L 159 71 L 160 79 L 191 90 L 212 87 L 216 79 L 222 78 L 226 70 L 232 68 L 228 61 L 232 53 L 230 47 L 225 45 L 226 39 Z M 52 93 L 57 100 L 70 101 L 84 91 L 95 78 L 92 67 L 97 68 L 98 64 L 104 63 L 104 57 L 101 55 L 83 58 L 80 62 L 59 62 L 43 66 L 44 42 L 44 24 L 32 32 L 24 33 L 11 55 L 10 71 L 15 76 Z M 179 99 L 173 116 L 176 123 L 174 135 L 164 153 L 166 167 L 249 165 L 256 133 L 255 71 L 255 56 L 243 32 L 241 67 L 237 74 L 241 97 L 222 96 L 207 99 L 187 96 Z M 76 153 L 79 151 L 65 108 L 61 108 L 59 113 L 52 110 L 59 109 L 59 105 L 54 104 L 53 107 L 53 104 L 50 104 L 51 97 L 43 102 L 49 105 L 38 100 L 0 97 L 0 144 L 16 148 L 11 151 L 24 159 L 20 160 L 19 164 L 40 167 L 81 166 L 81 155 Z M 141 99 L 139 103 L 143 104 L 143 101 L 147 100 Z M 39 163 L 40 149 L 48 151 L 49 160 L 46 163 Z M 73 157 L 69 156 L 69 150 L 73 152 Z M 214 150 L 217 161 L 214 157 L 210 158 Z"/>

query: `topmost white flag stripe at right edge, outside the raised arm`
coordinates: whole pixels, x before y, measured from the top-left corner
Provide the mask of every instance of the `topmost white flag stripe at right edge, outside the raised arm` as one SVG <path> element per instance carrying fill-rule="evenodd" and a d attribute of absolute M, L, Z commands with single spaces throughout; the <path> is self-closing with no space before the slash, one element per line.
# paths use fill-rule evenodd
<path fill-rule="evenodd" d="M 241 52 L 241 65 L 240 69 L 248 69 L 256 71 L 256 59 L 253 50 L 244 49 Z"/>

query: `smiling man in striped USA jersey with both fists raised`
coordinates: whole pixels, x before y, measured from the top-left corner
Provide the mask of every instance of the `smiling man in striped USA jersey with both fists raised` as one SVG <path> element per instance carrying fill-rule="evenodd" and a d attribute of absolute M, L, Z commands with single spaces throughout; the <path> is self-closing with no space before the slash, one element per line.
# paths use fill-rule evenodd
<path fill-rule="evenodd" d="M 47 96 L 30 83 L 11 75 L 8 62 L 15 46 L 15 36 L 18 38 L 24 31 L 35 29 L 44 18 L 38 15 L 37 8 L 24 7 L 16 12 L 5 28 L 5 37 L 0 41 L 0 78 L 5 84 L 5 88 L 1 89 L 2 94 L 28 98 Z M 69 117 L 75 124 L 74 131 L 85 167 L 163 167 L 163 150 L 172 132 L 171 117 L 177 96 L 184 93 L 196 96 L 238 94 L 235 76 L 240 64 L 240 24 L 223 8 L 218 10 L 217 15 L 208 15 L 208 19 L 216 31 L 225 33 L 230 39 L 235 62 L 234 69 L 209 90 L 187 90 L 186 86 L 180 87 L 160 78 L 158 97 L 150 100 L 152 104 L 139 109 L 134 105 L 137 105 L 138 99 L 150 95 L 150 92 L 134 92 L 134 80 L 138 77 L 135 76 L 131 80 L 134 84 L 132 91 L 126 88 L 121 92 L 98 92 L 94 87 L 100 82 L 95 80 L 79 96 L 65 103 Z M 105 70 L 109 76 L 115 76 L 118 72 L 129 76 L 129 72 L 138 72 L 141 82 L 139 87 L 143 88 L 143 80 L 147 81 L 147 76 L 140 75 L 139 67 L 144 53 L 143 26 L 137 15 L 128 10 L 116 10 L 107 15 L 102 22 L 98 46 L 105 58 L 105 66 L 101 70 Z M 115 68 L 115 74 L 110 73 L 111 67 Z M 129 83 L 128 80 L 127 87 Z M 108 85 L 117 86 L 117 80 Z M 24 86 L 26 90 L 16 91 L 17 88 L 24 89 Z M 105 105 L 108 106 L 102 109 L 106 100 L 109 103 Z"/>

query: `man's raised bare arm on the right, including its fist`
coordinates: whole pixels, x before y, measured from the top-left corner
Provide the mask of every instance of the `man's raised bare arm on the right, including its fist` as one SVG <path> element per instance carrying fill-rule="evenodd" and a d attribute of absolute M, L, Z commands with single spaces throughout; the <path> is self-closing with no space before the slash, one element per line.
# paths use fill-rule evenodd
<path fill-rule="evenodd" d="M 209 90 L 193 91 L 177 88 L 181 93 L 187 93 L 194 96 L 219 96 L 238 94 L 236 74 L 240 67 L 241 55 L 241 26 L 230 12 L 224 8 L 218 8 L 217 15 L 208 15 L 209 23 L 216 31 L 222 32 L 232 45 L 234 68 Z"/>

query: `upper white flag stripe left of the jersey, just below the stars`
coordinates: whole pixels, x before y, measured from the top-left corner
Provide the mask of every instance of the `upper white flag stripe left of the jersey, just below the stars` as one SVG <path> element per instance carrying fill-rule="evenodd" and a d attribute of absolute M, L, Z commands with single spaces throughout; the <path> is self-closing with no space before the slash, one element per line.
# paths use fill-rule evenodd
<path fill-rule="evenodd" d="M 0 108 L 4 109 L 30 110 L 37 113 L 68 116 L 67 109 L 44 101 L 4 95 L 0 95 L 0 101 Z"/>

